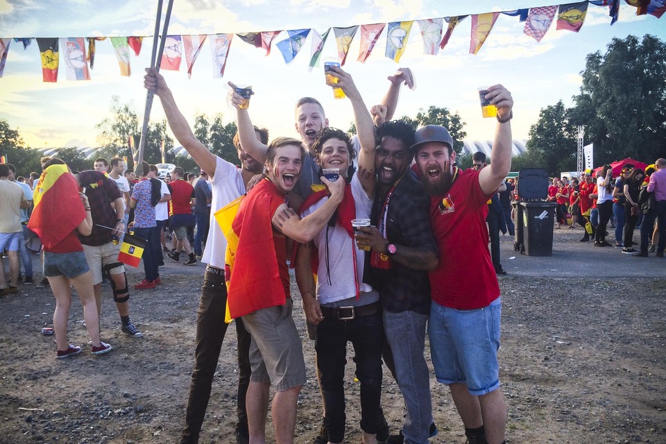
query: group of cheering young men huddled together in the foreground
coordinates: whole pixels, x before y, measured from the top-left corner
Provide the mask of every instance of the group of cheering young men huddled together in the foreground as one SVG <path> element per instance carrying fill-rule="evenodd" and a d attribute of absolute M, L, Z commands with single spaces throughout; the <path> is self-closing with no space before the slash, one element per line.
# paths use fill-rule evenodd
<path fill-rule="evenodd" d="M 237 236 L 232 267 L 225 264 L 228 239 L 217 223 L 210 225 L 181 443 L 198 442 L 227 327 L 227 302 L 239 337 L 237 441 L 264 443 L 271 385 L 275 441 L 293 441 L 307 373 L 291 312 L 287 259 L 315 340 L 324 435 L 316 443 L 344 440 L 348 342 L 355 348 L 361 385 L 362 442 L 427 443 L 436 429 L 426 329 L 436 378 L 450 386 L 468 441 L 502 443 L 501 302 L 485 219 L 487 200 L 511 166 L 511 94 L 501 85 L 489 88 L 487 98 L 498 108 L 492 162 L 479 171 L 461 171 L 454 166 L 454 142 L 446 128 L 415 131 L 384 121 L 395 110 L 401 83 L 411 83 L 409 70 L 389 77 L 389 92 L 372 114 L 351 76 L 335 67 L 333 74 L 352 104 L 357 167 L 355 142 L 329 128 L 315 99 L 296 104 L 301 140 L 278 137 L 268 144 L 266 131 L 253 126 L 248 110 L 239 108 L 242 98 L 232 94 L 237 169 L 198 142 L 157 71 L 148 70 L 144 78 L 146 88 L 160 97 L 178 142 L 210 174 L 212 211 L 244 196 L 231 226 Z M 323 169 L 337 169 L 337 176 L 325 178 Z M 257 177 L 262 170 L 265 176 Z M 355 228 L 352 219 L 370 219 L 370 225 Z M 386 424 L 380 407 L 382 359 L 406 407 L 403 428 L 394 436 L 377 434 Z"/>

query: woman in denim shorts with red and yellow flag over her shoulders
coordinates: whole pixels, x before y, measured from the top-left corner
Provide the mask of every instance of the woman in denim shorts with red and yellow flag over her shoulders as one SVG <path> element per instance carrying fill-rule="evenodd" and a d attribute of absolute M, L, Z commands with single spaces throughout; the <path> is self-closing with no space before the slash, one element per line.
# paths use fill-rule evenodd
<path fill-rule="evenodd" d="M 92 288 L 92 273 L 90 273 L 88 263 L 85 260 L 83 246 L 81 246 L 77 237 L 77 233 L 87 236 L 92 232 L 90 204 L 85 194 L 78 192 L 76 180 L 67 171 L 65 162 L 56 158 L 52 159 L 49 167 L 42 173 L 42 178 L 48 174 L 58 177 L 56 179 L 58 189 L 40 188 L 36 190 L 43 193 L 43 196 L 40 198 L 41 202 L 35 205 L 35 212 L 41 206 L 39 210 L 40 217 L 33 219 L 43 222 L 36 222 L 31 228 L 42 238 L 42 244 L 44 245 L 44 276 L 49 280 L 53 296 L 56 297 L 56 311 L 53 313 L 53 329 L 56 330 L 56 343 L 58 344 L 56 357 L 64 359 L 78 355 L 82 351 L 80 347 L 69 344 L 67 339 L 67 318 L 71 305 L 72 286 L 74 286 L 81 304 L 83 304 L 83 319 L 90 339 L 92 339 L 92 354 L 102 355 L 110 352 L 112 347 L 99 339 L 99 314 Z M 40 182 L 43 184 L 46 181 L 40 180 Z M 57 191 L 58 196 L 52 196 L 53 193 L 49 194 L 49 191 Z M 72 199 L 73 194 L 77 193 L 80 199 Z M 64 196 L 65 194 L 69 194 L 69 199 Z M 62 214 L 62 207 L 49 202 L 53 199 L 71 204 L 67 205 L 67 214 Z M 62 237 L 62 235 L 56 237 L 56 239 L 62 237 L 58 243 L 50 240 L 53 239 L 53 235 L 48 229 L 44 230 L 46 228 L 44 225 L 53 225 L 53 221 L 62 217 L 74 219 L 77 216 L 78 218 L 83 216 L 84 219 L 74 230 L 71 230 L 65 237 Z M 77 219 L 74 219 L 74 221 Z M 42 227 L 39 225 L 42 225 Z"/>

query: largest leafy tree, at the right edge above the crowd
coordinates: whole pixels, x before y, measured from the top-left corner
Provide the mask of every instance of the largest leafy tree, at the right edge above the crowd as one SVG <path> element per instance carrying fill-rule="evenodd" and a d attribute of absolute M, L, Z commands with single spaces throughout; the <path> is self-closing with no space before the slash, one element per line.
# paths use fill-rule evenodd
<path fill-rule="evenodd" d="M 666 140 L 666 44 L 652 35 L 613 39 L 589 54 L 571 121 L 586 128 L 595 163 L 624 157 L 654 162 Z"/>

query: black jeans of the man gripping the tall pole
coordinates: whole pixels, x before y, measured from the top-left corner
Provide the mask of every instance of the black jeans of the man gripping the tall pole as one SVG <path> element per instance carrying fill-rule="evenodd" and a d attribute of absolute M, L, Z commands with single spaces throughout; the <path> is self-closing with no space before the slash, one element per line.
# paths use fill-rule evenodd
<path fill-rule="evenodd" d="M 217 269 L 215 269 L 217 270 Z M 221 272 L 221 271 L 220 271 Z M 227 304 L 227 287 L 224 275 L 206 271 L 201 287 L 201 299 L 196 316 L 196 351 L 194 370 L 189 386 L 185 428 L 182 430 L 180 444 L 198 443 L 201 425 L 206 414 L 213 382 L 213 375 L 220 357 L 222 341 L 228 324 L 224 322 Z M 250 385 L 250 339 L 251 336 L 241 318 L 236 323 L 238 336 L 238 398 L 237 415 L 239 427 L 247 429 L 248 413 L 245 400 Z"/>

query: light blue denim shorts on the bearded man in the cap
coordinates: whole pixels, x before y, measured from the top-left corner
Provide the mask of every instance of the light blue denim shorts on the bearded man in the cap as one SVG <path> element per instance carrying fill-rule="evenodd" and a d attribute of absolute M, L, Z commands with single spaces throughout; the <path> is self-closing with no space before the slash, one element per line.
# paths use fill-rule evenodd
<path fill-rule="evenodd" d="M 501 316 L 501 298 L 474 310 L 457 310 L 431 302 L 428 336 L 438 382 L 467 384 L 472 395 L 486 395 L 499 388 Z"/>

